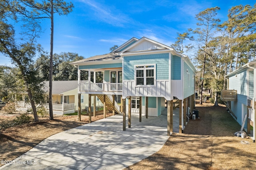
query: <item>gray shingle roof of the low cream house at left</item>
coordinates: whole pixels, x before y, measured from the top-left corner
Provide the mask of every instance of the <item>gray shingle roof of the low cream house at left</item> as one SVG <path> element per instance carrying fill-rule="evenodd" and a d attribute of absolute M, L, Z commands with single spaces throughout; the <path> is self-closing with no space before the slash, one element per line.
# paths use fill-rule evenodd
<path fill-rule="evenodd" d="M 88 80 L 86 80 L 88 81 Z M 49 92 L 49 81 L 44 81 L 44 92 Z M 61 94 L 78 88 L 77 80 L 52 81 L 52 94 Z"/>

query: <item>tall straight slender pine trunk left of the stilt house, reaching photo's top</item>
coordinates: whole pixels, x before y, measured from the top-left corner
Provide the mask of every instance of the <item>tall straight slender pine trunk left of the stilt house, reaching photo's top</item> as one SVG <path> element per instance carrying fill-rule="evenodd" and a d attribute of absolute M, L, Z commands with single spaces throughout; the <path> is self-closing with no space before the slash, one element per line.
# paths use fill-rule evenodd
<path fill-rule="evenodd" d="M 49 75 L 49 115 L 53 120 L 52 111 L 52 58 L 53 58 L 53 0 L 51 0 L 51 49 L 50 49 L 50 75 Z"/>

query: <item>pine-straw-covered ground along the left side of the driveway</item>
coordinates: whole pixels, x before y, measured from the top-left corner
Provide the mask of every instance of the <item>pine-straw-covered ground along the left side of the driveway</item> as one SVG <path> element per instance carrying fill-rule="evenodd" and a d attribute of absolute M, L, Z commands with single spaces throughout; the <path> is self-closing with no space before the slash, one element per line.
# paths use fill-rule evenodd
<path fill-rule="evenodd" d="M 0 114 L 0 121 L 12 120 L 19 113 L 5 115 Z M 106 117 L 112 113 L 107 113 Z M 32 115 L 31 115 L 32 116 Z M 92 116 L 92 121 L 103 119 L 103 114 L 97 113 L 96 117 Z M 88 123 L 88 116 L 82 115 L 81 121 L 77 121 L 75 116 L 57 116 L 50 121 L 48 117 L 40 118 L 38 123 L 29 123 L 15 127 L 9 127 L 0 131 L 0 160 L 13 160 L 21 154 L 27 152 L 38 143 L 56 133 L 72 129 Z M 0 164 L 3 166 L 3 164 Z"/>

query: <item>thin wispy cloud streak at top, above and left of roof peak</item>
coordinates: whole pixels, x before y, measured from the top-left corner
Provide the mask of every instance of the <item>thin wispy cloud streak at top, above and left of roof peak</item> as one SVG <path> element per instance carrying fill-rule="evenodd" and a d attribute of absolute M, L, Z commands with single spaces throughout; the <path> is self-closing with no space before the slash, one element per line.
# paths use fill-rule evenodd
<path fill-rule="evenodd" d="M 94 0 L 80 0 L 84 4 L 90 6 L 90 8 L 95 12 L 96 18 L 101 21 L 114 25 L 116 27 L 124 27 L 125 23 L 131 21 L 131 19 L 125 14 L 114 13 L 114 11 L 118 12 L 113 6 L 106 6 L 102 3 L 95 2 Z"/>

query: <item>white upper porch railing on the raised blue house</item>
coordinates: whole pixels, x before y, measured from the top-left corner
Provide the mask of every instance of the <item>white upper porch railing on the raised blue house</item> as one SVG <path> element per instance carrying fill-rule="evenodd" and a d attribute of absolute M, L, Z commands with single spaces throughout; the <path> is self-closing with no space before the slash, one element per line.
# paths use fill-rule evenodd
<path fill-rule="evenodd" d="M 80 91 L 122 92 L 122 83 L 81 83 Z"/>

